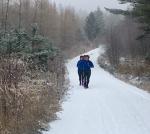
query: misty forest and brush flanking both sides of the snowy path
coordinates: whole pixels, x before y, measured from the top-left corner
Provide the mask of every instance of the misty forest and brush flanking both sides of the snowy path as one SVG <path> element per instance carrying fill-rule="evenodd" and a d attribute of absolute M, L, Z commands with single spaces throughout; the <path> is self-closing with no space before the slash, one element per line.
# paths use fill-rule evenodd
<path fill-rule="evenodd" d="M 101 67 L 150 91 L 150 1 L 119 1 L 132 8 L 80 14 L 49 0 L 0 0 L 1 134 L 49 129 L 67 94 L 66 61 L 100 44 Z"/>

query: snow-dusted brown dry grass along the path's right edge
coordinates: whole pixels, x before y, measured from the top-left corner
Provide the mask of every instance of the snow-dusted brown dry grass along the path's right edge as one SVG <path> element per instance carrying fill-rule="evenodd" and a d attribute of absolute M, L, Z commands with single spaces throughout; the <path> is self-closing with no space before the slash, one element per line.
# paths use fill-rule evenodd
<path fill-rule="evenodd" d="M 118 79 L 150 92 L 150 63 L 144 62 L 143 59 L 130 59 L 113 68 L 104 54 L 99 57 L 98 63 Z M 135 81 L 136 78 L 139 80 Z"/>

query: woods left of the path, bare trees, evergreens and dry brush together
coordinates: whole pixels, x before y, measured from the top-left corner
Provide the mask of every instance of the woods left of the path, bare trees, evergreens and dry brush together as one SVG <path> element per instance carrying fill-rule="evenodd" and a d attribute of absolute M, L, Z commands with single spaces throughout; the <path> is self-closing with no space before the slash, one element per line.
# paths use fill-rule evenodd
<path fill-rule="evenodd" d="M 80 23 L 73 8 L 48 0 L 0 0 L 1 134 L 37 134 L 56 119 L 65 57 L 87 42 Z"/>

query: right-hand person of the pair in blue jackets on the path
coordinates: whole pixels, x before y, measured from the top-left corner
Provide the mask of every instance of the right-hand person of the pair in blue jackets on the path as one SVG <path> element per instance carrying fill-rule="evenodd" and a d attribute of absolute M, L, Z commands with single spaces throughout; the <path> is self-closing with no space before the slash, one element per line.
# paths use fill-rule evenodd
<path fill-rule="evenodd" d="M 92 61 L 90 61 L 90 56 L 84 56 L 84 87 L 89 88 L 89 82 L 91 77 L 91 68 L 94 68 Z"/>

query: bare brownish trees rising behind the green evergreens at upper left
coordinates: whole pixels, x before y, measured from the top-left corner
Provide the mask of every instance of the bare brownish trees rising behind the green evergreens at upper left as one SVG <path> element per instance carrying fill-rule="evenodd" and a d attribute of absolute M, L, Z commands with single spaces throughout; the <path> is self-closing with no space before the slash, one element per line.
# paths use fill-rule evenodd
<path fill-rule="evenodd" d="M 1 30 L 24 28 L 30 32 L 32 24 L 63 51 L 85 41 L 80 17 L 71 7 L 57 7 L 49 0 L 0 0 Z"/>

